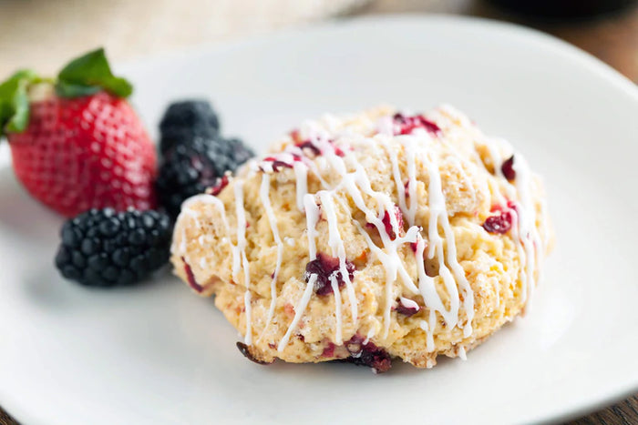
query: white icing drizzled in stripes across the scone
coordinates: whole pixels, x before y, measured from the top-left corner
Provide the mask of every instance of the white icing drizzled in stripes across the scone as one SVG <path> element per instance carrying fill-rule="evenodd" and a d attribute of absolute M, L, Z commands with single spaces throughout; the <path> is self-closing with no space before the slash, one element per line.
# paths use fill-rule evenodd
<path fill-rule="evenodd" d="M 456 120 L 461 126 L 473 126 L 462 114 L 458 114 L 454 109 L 445 106 L 442 107 L 435 115 L 440 118 L 441 122 L 453 126 L 452 121 Z M 429 311 L 427 319 L 419 321 L 419 327 L 426 333 L 427 350 L 432 352 L 435 349 L 434 334 L 437 329 L 437 314 L 444 320 L 446 325 L 451 329 L 458 327 L 463 329 L 464 337 L 468 337 L 472 333 L 472 320 L 474 318 L 474 294 L 472 288 L 465 276 L 465 270 L 458 262 L 457 248 L 454 231 L 449 222 L 448 209 L 446 199 L 443 193 L 441 173 L 439 165 L 432 155 L 436 151 L 436 144 L 448 143 L 445 139 L 432 137 L 427 131 L 417 129 L 411 135 L 394 136 L 396 130 L 391 116 L 380 118 L 377 123 L 378 133 L 373 137 L 373 142 L 384 147 L 389 157 L 389 165 L 391 167 L 391 176 L 396 186 L 397 206 L 403 217 L 406 219 L 408 229 L 399 227 L 399 222 L 395 215 L 395 204 L 392 198 L 384 192 L 373 189 L 370 177 L 365 171 L 365 167 L 356 161 L 354 155 L 349 153 L 348 148 L 338 145 L 337 141 L 341 136 L 350 137 L 365 143 L 370 142 L 369 138 L 355 134 L 353 131 L 340 128 L 339 121 L 333 117 L 324 118 L 324 126 L 320 126 L 314 122 L 306 122 L 300 129 L 300 134 L 305 135 L 303 140 L 309 140 L 316 149 L 321 151 L 321 155 L 311 160 L 306 157 L 310 153 L 315 154 L 314 148 L 306 148 L 302 150 L 293 144 L 285 147 L 283 152 L 271 154 L 269 160 L 251 161 L 248 166 L 255 172 L 262 173 L 262 185 L 260 187 L 260 199 L 268 218 L 270 227 L 273 232 L 273 240 L 277 248 L 277 260 L 273 278 L 271 281 L 271 302 L 268 310 L 268 317 L 262 336 L 268 329 L 273 320 L 274 308 L 277 300 L 276 283 L 282 266 L 284 243 L 287 246 L 294 247 L 295 240 L 293 238 L 280 237 L 277 227 L 277 218 L 273 211 L 270 200 L 271 176 L 273 173 L 282 171 L 283 168 L 292 168 L 295 177 L 295 197 L 296 207 L 304 212 L 306 220 L 306 236 L 308 239 L 308 258 L 312 261 L 317 258 L 316 239 L 319 237 L 316 226 L 320 218 L 324 218 L 328 226 L 327 243 L 332 251 L 332 257 L 339 260 L 340 276 L 345 283 L 345 293 L 350 302 L 351 315 L 356 327 L 358 321 L 357 310 L 358 302 L 356 299 L 355 285 L 349 278 L 347 271 L 347 258 L 345 255 L 345 242 L 341 237 L 336 207 L 337 205 L 343 209 L 346 214 L 350 207 L 345 204 L 345 195 L 349 197 L 365 216 L 367 223 L 371 224 L 378 231 L 381 239 L 380 246 L 370 238 L 368 231 L 354 218 L 350 217 L 352 223 L 358 232 L 365 239 L 365 244 L 369 248 L 371 254 L 382 264 L 386 273 L 386 283 L 384 287 L 385 305 L 383 312 L 383 338 L 387 338 L 389 327 L 391 324 L 391 310 L 395 303 L 393 288 L 395 288 L 398 279 L 403 288 L 413 294 L 419 294 L 424 300 L 425 306 Z M 341 133 L 339 133 L 341 131 Z M 489 149 L 489 156 L 494 164 L 494 173 L 498 177 L 498 182 L 489 182 L 489 191 L 496 198 L 498 205 L 502 208 L 510 208 L 513 215 L 513 223 L 511 228 L 511 238 L 514 239 L 517 252 L 520 258 L 521 272 L 520 281 L 524 292 L 524 298 L 527 302 L 532 295 L 534 272 L 539 270 L 540 261 L 544 248 L 540 238 L 539 230 L 536 228 L 536 206 L 533 204 L 532 194 L 536 187 L 536 183 L 531 175 L 530 168 L 525 159 L 515 153 L 513 168 L 517 173 L 515 183 L 512 185 L 502 175 L 500 165 L 503 163 L 501 156 L 501 148 L 503 150 L 512 151 L 506 142 L 494 139 L 481 140 Z M 463 159 L 458 153 L 456 147 L 449 146 L 453 154 L 448 157 L 460 171 L 464 184 L 471 186 L 471 179 L 463 169 Z M 312 151 L 312 152 L 311 152 Z M 398 153 L 401 152 L 405 160 L 405 170 L 407 176 L 402 176 L 401 167 L 399 165 Z M 478 157 L 478 152 L 474 152 Z M 283 163 L 283 166 L 277 165 L 275 161 Z M 429 220 L 427 228 L 420 228 L 415 225 L 417 217 L 417 161 L 427 172 L 427 206 L 429 209 Z M 308 173 L 312 173 L 313 177 L 320 182 L 322 189 L 315 194 L 308 193 Z M 337 181 L 334 185 L 329 185 L 323 176 L 330 176 L 331 181 Z M 336 177 L 336 178 L 333 178 Z M 504 189 L 505 194 L 501 194 Z M 406 193 L 407 192 L 407 193 Z M 232 248 L 232 276 L 235 280 L 241 269 L 244 272 L 244 285 L 246 292 L 244 293 L 244 309 L 246 313 L 246 334 L 244 341 L 246 344 L 252 344 L 252 293 L 250 287 L 250 269 L 248 259 L 246 258 L 246 218 L 243 205 L 243 186 L 242 180 L 234 182 L 235 195 L 235 213 L 237 218 L 237 243 L 233 245 L 230 238 L 223 238 L 224 243 L 229 243 Z M 472 196 L 476 201 L 476 193 L 472 190 Z M 369 200 L 366 202 L 365 197 Z M 201 195 L 193 197 L 187 201 L 182 207 L 182 214 L 188 215 L 197 221 L 197 214 L 190 210 L 190 206 L 197 201 L 212 203 L 217 206 L 221 213 L 221 218 L 225 228 L 228 227 L 226 222 L 223 203 L 217 198 L 210 195 Z M 511 203 L 509 204 L 508 201 Z M 372 207 L 368 207 L 368 204 Z M 319 205 L 321 207 L 319 207 Z M 510 207 L 511 206 L 511 207 Z M 545 214 L 545 205 L 540 205 L 540 214 Z M 389 224 L 394 235 L 389 235 L 386 231 L 386 223 L 384 217 L 388 215 Z M 179 218 L 179 220 L 180 220 Z M 180 252 L 186 252 L 186 235 L 182 228 L 180 240 Z M 548 238 L 548 230 L 541 229 L 542 236 L 545 240 Z M 427 235 L 427 239 L 424 238 Z M 392 238 L 394 237 L 394 238 Z M 445 241 L 445 246 L 444 246 Z M 202 243 L 200 241 L 200 243 Z M 448 307 L 444 304 L 441 294 L 437 291 L 437 278 L 427 276 L 426 265 L 424 261 L 417 261 L 417 282 L 410 277 L 406 271 L 406 264 L 399 256 L 399 249 L 404 245 L 415 244 L 415 255 L 417 258 L 437 259 L 438 277 L 443 283 L 443 288 L 447 292 Z M 174 250 L 175 247 L 171 247 Z M 202 260 L 201 268 L 204 268 L 205 262 Z M 315 274 L 307 277 L 304 291 L 301 298 L 296 302 L 294 307 L 294 317 L 288 329 L 279 341 L 277 349 L 281 352 L 288 345 L 288 342 L 297 329 L 301 319 L 304 317 L 305 310 L 314 293 L 314 285 L 317 280 Z M 337 281 L 337 274 L 333 273 L 329 278 L 330 285 L 334 292 L 334 341 L 337 344 L 343 343 L 343 303 L 342 294 Z M 497 283 L 497 285 L 499 285 Z M 499 306 L 499 289 L 496 288 L 496 304 Z M 408 309 L 420 309 L 420 306 L 413 299 L 403 296 L 398 297 L 399 302 Z M 464 313 L 464 320 L 461 322 L 461 314 Z M 364 344 L 376 335 L 376 328 L 373 326 L 369 329 Z M 261 339 L 261 338 L 260 338 Z M 465 359 L 465 348 L 458 347 L 458 356 Z"/>

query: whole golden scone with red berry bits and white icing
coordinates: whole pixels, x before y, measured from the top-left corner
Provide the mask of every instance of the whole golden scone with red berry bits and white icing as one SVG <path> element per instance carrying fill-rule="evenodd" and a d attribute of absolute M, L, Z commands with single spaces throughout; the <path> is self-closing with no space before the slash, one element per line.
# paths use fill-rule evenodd
<path fill-rule="evenodd" d="M 271 152 L 186 201 L 173 236 L 176 274 L 249 359 L 430 368 L 529 304 L 540 179 L 452 107 L 324 116 Z"/>

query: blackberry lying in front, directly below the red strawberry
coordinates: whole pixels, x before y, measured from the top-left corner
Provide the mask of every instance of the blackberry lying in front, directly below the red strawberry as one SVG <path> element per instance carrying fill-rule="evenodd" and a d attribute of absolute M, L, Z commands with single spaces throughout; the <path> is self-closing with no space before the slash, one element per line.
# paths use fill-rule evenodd
<path fill-rule="evenodd" d="M 139 281 L 169 260 L 170 218 L 157 211 L 91 209 L 65 222 L 56 267 L 92 287 Z"/>

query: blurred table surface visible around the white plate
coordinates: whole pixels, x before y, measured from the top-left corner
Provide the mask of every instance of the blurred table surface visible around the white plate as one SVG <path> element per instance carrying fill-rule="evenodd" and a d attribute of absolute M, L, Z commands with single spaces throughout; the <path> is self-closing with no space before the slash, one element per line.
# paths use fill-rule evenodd
<path fill-rule="evenodd" d="M 559 22 L 512 15 L 479 0 L 297 1 L 285 2 L 285 8 L 276 7 L 284 3 L 282 0 L 255 3 L 239 0 L 0 0 L 0 28 L 4 34 L 0 37 L 0 51 L 4 52 L 0 76 L 25 65 L 52 72 L 59 65 L 60 57 L 72 57 L 100 45 L 107 46 L 109 56 L 119 61 L 202 42 L 261 35 L 286 25 L 311 22 L 326 14 L 444 13 L 489 17 L 535 27 L 598 56 L 638 83 L 638 5 L 595 19 Z M 69 10 L 75 13 L 69 14 Z M 88 20 L 75 18 L 78 15 L 92 16 L 90 28 Z M 140 16 L 146 20 L 144 32 L 131 36 L 130 28 L 140 25 L 127 23 L 132 20 L 139 23 Z M 180 22 L 189 31 L 175 31 L 166 22 Z M 56 37 L 51 37 L 52 34 Z M 0 425 L 16 423 L 0 408 Z M 569 422 L 570 425 L 635 423 L 638 423 L 638 395 Z"/>

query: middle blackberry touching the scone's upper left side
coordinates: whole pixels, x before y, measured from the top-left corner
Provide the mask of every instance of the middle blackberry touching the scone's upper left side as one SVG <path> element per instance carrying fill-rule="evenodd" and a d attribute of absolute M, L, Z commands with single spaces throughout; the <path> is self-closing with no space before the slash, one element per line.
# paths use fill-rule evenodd
<path fill-rule="evenodd" d="M 252 156 L 252 150 L 234 138 L 195 137 L 189 144 L 172 147 L 155 182 L 160 205 L 177 218 L 184 200 L 215 186 L 226 171 L 234 171 Z"/>

